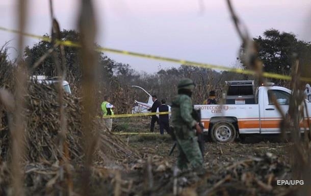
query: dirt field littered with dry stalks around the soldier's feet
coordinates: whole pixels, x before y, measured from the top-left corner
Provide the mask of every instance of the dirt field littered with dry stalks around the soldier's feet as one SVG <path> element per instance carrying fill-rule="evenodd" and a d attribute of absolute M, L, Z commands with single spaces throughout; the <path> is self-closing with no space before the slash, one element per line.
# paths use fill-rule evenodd
<path fill-rule="evenodd" d="M 292 144 L 280 142 L 278 136 L 251 136 L 243 143 L 207 142 L 200 169 L 177 171 L 178 149 L 169 156 L 174 144 L 170 135 L 149 133 L 148 119 L 114 123 L 114 134 L 139 158 L 95 159 L 89 195 L 297 195 L 302 187 L 277 185 L 277 180 L 293 180 Z M 69 168 L 71 195 L 81 195 L 86 183 L 82 180 L 83 164 L 71 163 Z M 68 184 L 60 179 L 57 162 L 29 163 L 24 171 L 26 195 L 60 195 L 68 190 Z M 8 182 L 0 180 L 4 195 L 9 193 L 7 187 Z"/>

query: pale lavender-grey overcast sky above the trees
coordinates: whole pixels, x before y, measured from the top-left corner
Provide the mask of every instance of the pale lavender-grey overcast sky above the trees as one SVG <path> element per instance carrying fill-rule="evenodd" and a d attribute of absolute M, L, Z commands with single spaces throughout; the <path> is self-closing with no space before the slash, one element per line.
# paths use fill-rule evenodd
<path fill-rule="evenodd" d="M 50 32 L 48 0 L 29 0 L 27 32 Z M 76 29 L 79 0 L 54 0 L 61 29 Z M 103 47 L 234 66 L 240 40 L 225 0 L 95 0 L 97 43 Z M 310 0 L 232 1 L 252 37 L 270 28 L 311 41 Z M 16 1 L 0 0 L 0 26 L 16 29 Z M 0 45 L 17 36 L 0 31 Z M 38 40 L 27 38 L 27 44 Z M 10 50 L 14 56 L 14 50 Z M 177 64 L 107 53 L 116 62 L 149 73 Z"/>

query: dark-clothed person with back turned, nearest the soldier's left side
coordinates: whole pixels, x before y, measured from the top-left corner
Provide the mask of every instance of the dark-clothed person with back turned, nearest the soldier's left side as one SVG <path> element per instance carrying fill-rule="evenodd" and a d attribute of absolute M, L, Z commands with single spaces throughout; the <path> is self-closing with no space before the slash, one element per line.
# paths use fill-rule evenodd
<path fill-rule="evenodd" d="M 157 113 L 162 113 L 162 112 L 171 112 L 171 107 L 165 104 L 165 99 L 161 100 L 161 105 L 157 109 Z M 167 133 L 170 133 L 170 125 L 169 125 L 169 118 L 171 114 L 166 114 L 166 115 L 157 115 L 159 118 L 159 124 L 160 124 L 160 134 L 164 134 L 164 129 L 166 130 Z"/>

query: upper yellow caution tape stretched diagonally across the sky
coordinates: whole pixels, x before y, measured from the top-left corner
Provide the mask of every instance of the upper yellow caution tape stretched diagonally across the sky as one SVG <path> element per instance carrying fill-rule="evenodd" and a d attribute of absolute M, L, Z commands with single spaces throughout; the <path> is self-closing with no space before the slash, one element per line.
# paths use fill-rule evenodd
<path fill-rule="evenodd" d="M 0 30 L 12 32 L 12 33 L 17 33 L 17 34 L 21 33 L 20 31 L 7 29 L 7 28 L 1 27 L 1 26 L 0 26 Z M 47 41 L 47 42 L 51 41 L 51 39 L 47 36 L 38 36 L 38 35 L 29 34 L 29 33 L 21 33 L 21 34 L 24 36 L 27 36 L 27 37 L 32 37 L 35 39 L 41 39 L 41 40 Z M 66 41 L 57 40 L 56 42 L 58 44 L 64 45 L 64 46 L 81 47 L 81 45 L 79 43 L 68 41 L 68 40 L 66 40 Z M 239 68 L 229 68 L 229 67 L 225 67 L 225 66 L 206 64 L 206 63 L 198 63 L 198 62 L 194 62 L 194 61 L 178 60 L 178 59 L 173 59 L 173 58 L 160 57 L 157 55 L 131 52 L 131 51 L 126 51 L 126 50 L 118 50 L 118 49 L 104 48 L 104 47 L 97 47 L 96 50 L 101 51 L 101 52 L 113 52 L 113 53 L 118 53 L 118 54 L 123 54 L 123 55 L 132 55 L 134 57 L 140 57 L 140 58 L 145 58 L 145 59 L 167 61 L 167 62 L 171 62 L 171 63 L 178 63 L 178 64 L 182 64 L 182 65 L 193 66 L 193 67 L 201 67 L 201 68 L 206 68 L 206 69 L 219 69 L 219 70 L 223 70 L 223 71 L 241 73 L 241 74 L 246 74 L 246 75 L 255 75 L 256 74 L 256 72 L 252 71 L 252 70 L 245 70 L 245 69 L 239 69 Z M 269 73 L 269 72 L 263 72 L 263 76 L 269 77 L 269 78 L 275 78 L 275 79 L 283 79 L 283 80 L 291 80 L 291 78 L 292 78 L 289 75 L 282 75 L 282 74 L 278 74 L 278 73 Z M 311 78 L 307 78 L 307 77 L 300 77 L 300 80 L 311 82 Z"/>

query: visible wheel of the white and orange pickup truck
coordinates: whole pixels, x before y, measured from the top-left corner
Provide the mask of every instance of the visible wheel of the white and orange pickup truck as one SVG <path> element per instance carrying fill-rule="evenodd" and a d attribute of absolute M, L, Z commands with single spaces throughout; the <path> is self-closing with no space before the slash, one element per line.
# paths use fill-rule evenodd
<path fill-rule="evenodd" d="M 213 142 L 231 143 L 235 140 L 237 131 L 231 123 L 218 122 L 211 131 L 211 138 Z"/>

